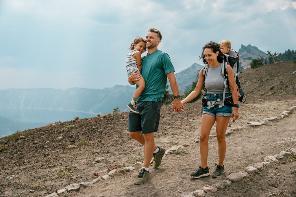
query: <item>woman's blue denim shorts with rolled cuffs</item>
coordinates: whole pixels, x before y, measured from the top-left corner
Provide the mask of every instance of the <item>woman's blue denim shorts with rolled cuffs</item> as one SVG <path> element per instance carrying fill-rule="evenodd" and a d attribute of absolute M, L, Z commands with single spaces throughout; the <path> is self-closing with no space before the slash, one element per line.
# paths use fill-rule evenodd
<path fill-rule="evenodd" d="M 225 97 L 228 97 L 229 94 L 226 93 Z M 223 99 L 223 93 L 221 94 L 207 94 L 207 100 L 208 101 L 214 101 Z M 207 105 L 204 107 L 202 114 L 209 114 L 212 115 L 214 117 L 216 117 L 216 115 L 218 116 L 231 116 L 232 113 L 232 107 L 226 106 L 224 105 L 222 108 L 219 108 L 219 105 L 215 105 L 213 108 L 207 109 Z"/>

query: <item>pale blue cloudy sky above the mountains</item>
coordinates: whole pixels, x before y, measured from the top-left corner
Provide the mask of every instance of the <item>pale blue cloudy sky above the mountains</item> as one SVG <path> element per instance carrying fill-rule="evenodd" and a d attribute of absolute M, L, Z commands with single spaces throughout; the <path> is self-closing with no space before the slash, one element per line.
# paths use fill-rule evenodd
<path fill-rule="evenodd" d="M 0 0 L 0 89 L 128 85 L 129 46 L 152 27 L 176 73 L 210 40 L 295 50 L 295 21 L 292 0 Z"/>

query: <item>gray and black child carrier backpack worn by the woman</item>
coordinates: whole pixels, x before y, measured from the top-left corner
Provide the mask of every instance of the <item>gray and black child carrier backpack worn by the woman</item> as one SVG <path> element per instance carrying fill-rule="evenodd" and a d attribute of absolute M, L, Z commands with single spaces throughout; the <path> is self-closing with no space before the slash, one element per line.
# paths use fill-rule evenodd
<path fill-rule="evenodd" d="M 223 54 L 223 61 L 221 64 L 221 75 L 225 79 L 224 81 L 224 90 L 223 90 L 223 99 L 216 100 L 216 101 L 207 101 L 206 95 L 207 95 L 207 89 L 205 89 L 205 76 L 207 75 L 207 71 L 209 68 L 209 65 L 205 65 L 203 67 L 203 72 L 202 75 L 204 76 L 204 83 L 203 83 L 203 89 L 205 91 L 205 94 L 202 96 L 202 106 L 205 107 L 206 105 L 208 106 L 207 108 L 211 108 L 214 105 L 219 105 L 219 108 L 223 107 L 224 105 L 226 106 L 233 106 L 233 100 L 232 100 L 232 95 L 231 95 L 231 90 L 229 86 L 229 81 L 228 81 L 228 73 L 227 73 L 227 64 L 229 64 L 233 70 L 234 74 L 234 79 L 235 83 L 237 84 L 237 87 L 239 89 L 239 94 L 241 97 L 239 97 L 240 102 L 245 102 L 247 100 L 246 95 L 244 94 L 244 91 L 242 90 L 242 87 L 239 82 L 239 77 L 238 77 L 238 70 L 239 70 L 239 55 L 237 54 L 236 51 L 231 49 L 228 54 Z M 229 97 L 225 97 L 225 92 L 226 89 L 228 89 L 229 92 Z"/>

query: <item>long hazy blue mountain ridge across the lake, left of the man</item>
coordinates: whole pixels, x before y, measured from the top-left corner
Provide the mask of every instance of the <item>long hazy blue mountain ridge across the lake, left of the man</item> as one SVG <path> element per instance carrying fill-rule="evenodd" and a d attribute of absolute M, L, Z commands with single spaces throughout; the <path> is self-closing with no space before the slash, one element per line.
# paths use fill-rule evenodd
<path fill-rule="evenodd" d="M 0 108 L 73 110 L 110 113 L 116 106 L 126 110 L 135 87 L 115 85 L 105 89 L 52 88 L 0 90 Z"/>

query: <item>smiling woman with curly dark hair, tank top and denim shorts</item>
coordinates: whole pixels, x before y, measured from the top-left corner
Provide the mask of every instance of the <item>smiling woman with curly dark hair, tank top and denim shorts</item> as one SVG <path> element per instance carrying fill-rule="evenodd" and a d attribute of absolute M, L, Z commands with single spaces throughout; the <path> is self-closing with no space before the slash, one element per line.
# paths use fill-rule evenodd
<path fill-rule="evenodd" d="M 209 168 L 207 167 L 207 156 L 209 152 L 208 138 L 210 135 L 211 128 L 213 127 L 215 121 L 217 121 L 216 133 L 218 141 L 218 155 L 219 162 L 216 164 L 216 170 L 213 172 L 212 177 L 216 178 L 221 176 L 224 170 L 224 158 L 226 153 L 226 141 L 225 133 L 230 120 L 230 117 L 234 118 L 233 122 L 239 117 L 238 112 L 238 94 L 236 89 L 236 84 L 234 80 L 234 74 L 231 66 L 227 65 L 228 81 L 230 85 L 230 90 L 232 93 L 234 109 L 232 107 L 224 105 L 222 107 L 220 100 L 223 99 L 223 90 L 224 90 L 224 81 L 225 79 L 222 76 L 221 72 L 221 63 L 223 61 L 223 53 L 220 50 L 220 45 L 213 41 L 207 43 L 202 47 L 202 64 L 208 64 L 209 67 L 205 74 L 205 79 L 203 76 L 203 69 L 199 73 L 198 82 L 195 89 L 184 99 L 182 103 L 185 104 L 200 94 L 200 91 L 203 88 L 205 80 L 205 88 L 207 90 L 207 100 L 216 101 L 212 102 L 215 105 L 211 108 L 206 105 L 203 108 L 202 112 L 202 122 L 201 122 L 201 131 L 200 131 L 200 157 L 201 157 L 201 166 L 190 174 L 193 178 L 200 178 L 210 175 Z M 204 67 L 205 69 L 205 67 Z M 228 90 L 226 90 L 225 97 L 229 96 Z M 220 104 L 220 105 L 219 105 Z M 178 110 L 179 111 L 179 110 Z"/>

